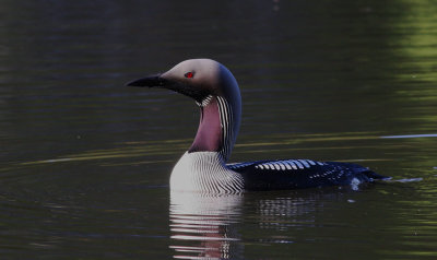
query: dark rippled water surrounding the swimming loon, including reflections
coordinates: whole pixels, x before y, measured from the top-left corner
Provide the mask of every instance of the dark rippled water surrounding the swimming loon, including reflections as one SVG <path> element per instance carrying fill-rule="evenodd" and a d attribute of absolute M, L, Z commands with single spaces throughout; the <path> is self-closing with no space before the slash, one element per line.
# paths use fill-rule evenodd
<path fill-rule="evenodd" d="M 3 0 L 1 258 L 436 259 L 436 13 L 426 0 Z M 196 57 L 240 84 L 233 162 L 356 162 L 401 181 L 170 198 L 197 108 L 122 85 Z"/>

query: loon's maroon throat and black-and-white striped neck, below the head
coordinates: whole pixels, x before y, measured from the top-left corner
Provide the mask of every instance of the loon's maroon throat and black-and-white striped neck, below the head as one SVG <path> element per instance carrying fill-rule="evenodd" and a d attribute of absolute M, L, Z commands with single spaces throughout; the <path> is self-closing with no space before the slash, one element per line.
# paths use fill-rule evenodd
<path fill-rule="evenodd" d="M 235 114 L 232 104 L 220 96 L 209 96 L 199 106 L 200 123 L 188 152 L 217 152 L 226 162 L 239 128 L 239 110 Z"/>

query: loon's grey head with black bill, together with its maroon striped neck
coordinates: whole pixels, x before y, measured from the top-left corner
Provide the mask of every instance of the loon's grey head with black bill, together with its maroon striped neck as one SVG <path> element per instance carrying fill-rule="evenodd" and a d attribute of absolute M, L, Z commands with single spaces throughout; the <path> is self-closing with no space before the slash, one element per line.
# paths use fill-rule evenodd
<path fill-rule="evenodd" d="M 201 117 L 188 152 L 220 152 L 227 161 L 239 130 L 241 97 L 226 67 L 211 59 L 190 59 L 127 85 L 168 88 L 193 98 Z"/>

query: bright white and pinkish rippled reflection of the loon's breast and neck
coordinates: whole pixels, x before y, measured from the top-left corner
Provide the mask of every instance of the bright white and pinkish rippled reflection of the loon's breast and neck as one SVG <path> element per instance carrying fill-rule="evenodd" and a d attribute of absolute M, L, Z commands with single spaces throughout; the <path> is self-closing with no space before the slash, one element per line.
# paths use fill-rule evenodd
<path fill-rule="evenodd" d="M 170 231 L 175 258 L 240 259 L 241 194 L 170 192 Z"/>

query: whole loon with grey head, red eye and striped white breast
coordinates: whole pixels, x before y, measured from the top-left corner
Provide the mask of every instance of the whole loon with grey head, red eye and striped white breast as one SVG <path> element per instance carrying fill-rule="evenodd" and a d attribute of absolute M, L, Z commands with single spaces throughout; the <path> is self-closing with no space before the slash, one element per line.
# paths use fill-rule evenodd
<path fill-rule="evenodd" d="M 226 164 L 236 141 L 241 97 L 231 71 L 211 59 L 190 59 L 167 72 L 127 84 L 167 88 L 193 98 L 200 123 L 170 175 L 170 191 L 239 193 L 323 186 L 357 186 L 386 179 L 366 167 L 338 162 L 275 159 Z"/>

